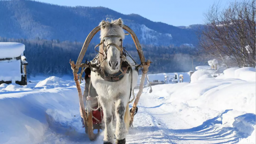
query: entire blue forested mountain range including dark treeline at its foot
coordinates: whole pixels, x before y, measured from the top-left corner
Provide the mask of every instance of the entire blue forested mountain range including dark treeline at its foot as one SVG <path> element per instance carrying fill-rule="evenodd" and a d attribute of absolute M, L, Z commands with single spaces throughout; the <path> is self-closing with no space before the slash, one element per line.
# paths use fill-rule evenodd
<path fill-rule="evenodd" d="M 89 32 L 106 18 L 120 17 L 136 33 L 146 59 L 153 62 L 149 73 L 192 70 L 192 52 L 198 44 L 195 33 L 197 25 L 175 27 L 104 7 L 0 0 L 0 42 L 25 44 L 29 75 L 72 74 L 69 60 L 77 60 Z M 94 46 L 99 42 L 98 33 L 88 47 L 85 55 L 87 60 L 95 57 Z M 124 39 L 124 47 L 140 63 L 131 36 Z M 194 59 L 194 66 L 198 61 Z"/>

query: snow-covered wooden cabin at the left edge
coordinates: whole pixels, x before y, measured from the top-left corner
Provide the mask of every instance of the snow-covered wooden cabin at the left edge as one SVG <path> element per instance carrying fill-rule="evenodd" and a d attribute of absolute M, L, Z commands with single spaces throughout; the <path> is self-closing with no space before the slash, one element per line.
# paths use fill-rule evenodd
<path fill-rule="evenodd" d="M 24 50 L 24 44 L 0 42 L 0 84 L 27 85 L 28 62 Z"/>

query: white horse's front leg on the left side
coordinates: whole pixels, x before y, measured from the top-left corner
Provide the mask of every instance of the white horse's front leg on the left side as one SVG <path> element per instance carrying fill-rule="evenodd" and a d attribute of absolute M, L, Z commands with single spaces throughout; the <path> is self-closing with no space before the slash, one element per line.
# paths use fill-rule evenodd
<path fill-rule="evenodd" d="M 104 144 L 113 144 L 113 132 L 111 130 L 111 121 L 112 121 L 112 101 L 109 101 L 103 97 L 99 97 L 100 104 L 103 109 L 104 122 L 105 122 L 105 130 L 104 130 Z"/>

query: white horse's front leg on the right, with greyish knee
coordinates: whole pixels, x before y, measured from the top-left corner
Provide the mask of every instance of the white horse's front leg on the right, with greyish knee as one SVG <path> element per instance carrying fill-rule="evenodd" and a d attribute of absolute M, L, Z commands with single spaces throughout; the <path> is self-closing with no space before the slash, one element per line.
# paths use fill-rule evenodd
<path fill-rule="evenodd" d="M 126 137 L 126 125 L 124 122 L 124 114 L 126 109 L 127 100 L 125 100 L 125 95 L 121 95 L 120 99 L 115 102 L 116 110 L 116 144 L 125 144 Z"/>

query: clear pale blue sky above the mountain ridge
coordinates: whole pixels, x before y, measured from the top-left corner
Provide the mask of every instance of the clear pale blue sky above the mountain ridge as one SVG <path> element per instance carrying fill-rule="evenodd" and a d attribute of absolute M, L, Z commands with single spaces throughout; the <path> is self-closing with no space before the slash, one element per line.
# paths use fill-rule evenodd
<path fill-rule="evenodd" d="M 38 0 L 62 6 L 104 6 L 123 14 L 136 13 L 151 21 L 174 26 L 203 24 L 204 15 L 214 3 L 221 8 L 235 0 Z M 236 0 L 241 1 L 241 0 Z M 124 4 L 126 2 L 126 4 Z"/>

